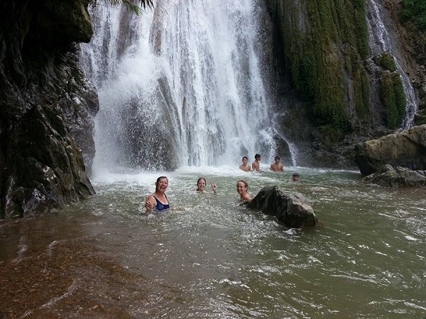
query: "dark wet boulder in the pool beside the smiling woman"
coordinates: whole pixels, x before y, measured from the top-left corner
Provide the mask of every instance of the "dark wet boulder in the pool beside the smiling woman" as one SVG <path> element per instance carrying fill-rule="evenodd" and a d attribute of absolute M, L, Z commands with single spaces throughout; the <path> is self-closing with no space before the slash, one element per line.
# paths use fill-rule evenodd
<path fill-rule="evenodd" d="M 275 216 L 289 228 L 314 226 L 318 221 L 305 196 L 298 192 L 284 194 L 278 186 L 263 187 L 247 206 Z"/>

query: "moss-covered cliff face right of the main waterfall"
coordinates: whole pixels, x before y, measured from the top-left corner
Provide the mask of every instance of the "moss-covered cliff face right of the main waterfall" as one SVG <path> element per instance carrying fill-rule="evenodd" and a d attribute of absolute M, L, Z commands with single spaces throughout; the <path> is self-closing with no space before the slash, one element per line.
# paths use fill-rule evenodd
<path fill-rule="evenodd" d="M 278 28 L 277 59 L 296 96 L 302 96 L 282 120 L 283 132 L 300 145 L 298 164 L 355 167 L 354 144 L 400 128 L 406 101 L 393 60 L 387 52 L 373 56 L 368 47 L 366 1 L 267 3 Z M 420 96 L 418 125 L 425 110 L 424 59 L 413 33 L 400 23 L 400 1 L 386 0 L 383 6 L 399 58 Z"/>

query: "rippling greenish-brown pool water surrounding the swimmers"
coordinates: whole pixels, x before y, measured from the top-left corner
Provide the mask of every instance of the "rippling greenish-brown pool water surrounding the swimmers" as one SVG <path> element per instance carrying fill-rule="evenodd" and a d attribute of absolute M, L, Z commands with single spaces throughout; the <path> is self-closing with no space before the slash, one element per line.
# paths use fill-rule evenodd
<path fill-rule="evenodd" d="M 82 204 L 0 223 L 0 318 L 426 315 L 425 189 L 368 186 L 348 171 L 187 167 L 167 174 L 173 208 L 144 216 L 163 174 L 103 174 Z M 200 176 L 219 194 L 195 193 Z M 239 179 L 252 195 L 300 191 L 322 225 L 289 230 L 239 206 Z"/>

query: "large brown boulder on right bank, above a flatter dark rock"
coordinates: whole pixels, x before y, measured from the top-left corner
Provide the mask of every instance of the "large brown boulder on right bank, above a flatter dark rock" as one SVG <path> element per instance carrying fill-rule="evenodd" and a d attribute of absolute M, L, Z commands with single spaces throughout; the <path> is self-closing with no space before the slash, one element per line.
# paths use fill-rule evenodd
<path fill-rule="evenodd" d="M 364 176 L 384 165 L 426 169 L 426 125 L 355 145 L 355 162 Z"/>

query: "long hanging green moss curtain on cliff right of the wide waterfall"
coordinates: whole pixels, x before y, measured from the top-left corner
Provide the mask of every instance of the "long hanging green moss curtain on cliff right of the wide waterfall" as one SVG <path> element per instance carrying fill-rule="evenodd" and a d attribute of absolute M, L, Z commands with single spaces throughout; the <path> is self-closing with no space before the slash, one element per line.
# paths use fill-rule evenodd
<path fill-rule="evenodd" d="M 356 110 L 368 111 L 369 78 L 362 65 L 369 54 L 365 0 L 287 0 L 285 6 L 283 41 L 291 79 L 312 101 L 315 124 L 338 140 L 348 129 L 348 79 L 355 82 Z"/>

